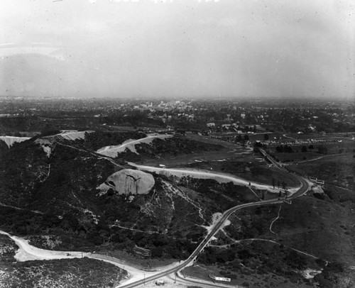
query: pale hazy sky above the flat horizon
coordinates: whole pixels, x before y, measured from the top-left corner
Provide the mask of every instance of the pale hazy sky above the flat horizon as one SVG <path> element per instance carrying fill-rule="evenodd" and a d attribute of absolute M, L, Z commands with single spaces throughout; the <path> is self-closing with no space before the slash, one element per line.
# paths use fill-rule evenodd
<path fill-rule="evenodd" d="M 0 95 L 350 99 L 353 3 L 1 0 Z"/>

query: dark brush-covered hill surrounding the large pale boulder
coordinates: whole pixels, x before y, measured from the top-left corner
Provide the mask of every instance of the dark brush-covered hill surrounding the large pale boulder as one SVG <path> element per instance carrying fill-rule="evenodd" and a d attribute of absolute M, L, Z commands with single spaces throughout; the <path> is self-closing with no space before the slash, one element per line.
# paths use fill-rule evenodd
<path fill-rule="evenodd" d="M 212 214 L 257 200 L 246 187 L 231 183 L 147 172 L 142 173 L 153 182 L 144 194 L 136 193 L 132 173 L 124 180 L 129 181 L 124 193 L 97 189 L 105 182 L 112 185 L 114 173 L 135 168 L 124 165 L 124 157 L 113 160 L 93 150 L 144 136 L 99 132 L 13 145 L 0 162 L 0 228 L 43 248 L 133 253 L 139 246 L 152 257 L 181 258 L 207 233 L 202 226 L 209 226 Z"/>

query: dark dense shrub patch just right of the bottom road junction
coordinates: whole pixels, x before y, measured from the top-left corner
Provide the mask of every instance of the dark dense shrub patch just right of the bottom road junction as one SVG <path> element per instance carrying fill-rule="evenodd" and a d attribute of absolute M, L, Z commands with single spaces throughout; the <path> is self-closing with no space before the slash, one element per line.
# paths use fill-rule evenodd
<path fill-rule="evenodd" d="M 309 282 L 297 271 L 307 267 L 316 270 L 321 268 L 312 257 L 283 245 L 261 241 L 236 243 L 225 249 L 209 247 L 204 249 L 197 261 L 205 265 L 216 263 L 222 277 L 240 279 L 241 275 L 273 274 L 285 277 L 288 282 L 293 283 Z"/>

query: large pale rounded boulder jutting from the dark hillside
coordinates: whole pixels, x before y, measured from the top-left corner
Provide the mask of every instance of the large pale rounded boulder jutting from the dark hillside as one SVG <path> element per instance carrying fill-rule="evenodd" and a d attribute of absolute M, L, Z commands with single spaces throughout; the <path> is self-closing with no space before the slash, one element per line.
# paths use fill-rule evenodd
<path fill-rule="evenodd" d="M 109 189 L 114 189 L 119 194 L 148 194 L 155 184 L 152 175 L 140 170 L 125 169 L 109 176 L 102 183 L 100 195 L 106 194 Z"/>

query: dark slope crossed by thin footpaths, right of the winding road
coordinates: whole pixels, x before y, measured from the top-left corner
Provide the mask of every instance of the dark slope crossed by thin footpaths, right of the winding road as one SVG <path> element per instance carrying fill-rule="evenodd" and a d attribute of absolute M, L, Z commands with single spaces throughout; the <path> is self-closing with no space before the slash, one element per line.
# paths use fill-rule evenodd
<path fill-rule="evenodd" d="M 315 287 L 317 282 L 324 288 L 352 287 L 353 209 L 354 204 L 338 204 L 327 196 L 303 196 L 292 205 L 237 211 L 225 234 L 219 233 L 200 255 L 199 265 L 250 287 Z M 187 273 L 199 275 L 201 267 L 187 268 Z M 307 271 L 318 272 L 307 279 L 302 276 Z M 343 286 L 347 281 L 349 286 Z"/>

